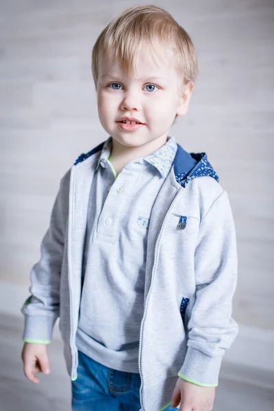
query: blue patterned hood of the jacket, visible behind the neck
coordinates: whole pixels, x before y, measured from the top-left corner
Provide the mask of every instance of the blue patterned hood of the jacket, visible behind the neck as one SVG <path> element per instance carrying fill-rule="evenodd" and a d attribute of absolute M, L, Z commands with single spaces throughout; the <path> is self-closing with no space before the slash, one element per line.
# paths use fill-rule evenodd
<path fill-rule="evenodd" d="M 100 151 L 103 145 L 104 142 L 101 142 L 97 147 L 88 151 L 88 153 L 79 155 L 74 165 L 83 162 L 86 158 L 90 157 L 90 155 Z M 216 182 L 219 182 L 219 176 L 208 161 L 206 153 L 188 153 L 178 143 L 173 166 L 175 179 L 182 187 L 185 187 L 191 179 L 203 177 L 204 175 L 209 175 L 216 179 Z"/>

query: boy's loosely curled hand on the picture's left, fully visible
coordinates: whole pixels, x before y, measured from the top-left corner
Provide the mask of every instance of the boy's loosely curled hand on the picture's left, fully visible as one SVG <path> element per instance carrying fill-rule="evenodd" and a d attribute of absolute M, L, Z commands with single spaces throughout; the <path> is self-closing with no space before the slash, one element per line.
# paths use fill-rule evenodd
<path fill-rule="evenodd" d="M 21 358 L 24 364 L 24 373 L 29 381 L 39 384 L 37 373 L 49 374 L 49 357 L 47 355 L 47 344 L 25 343 Z"/>

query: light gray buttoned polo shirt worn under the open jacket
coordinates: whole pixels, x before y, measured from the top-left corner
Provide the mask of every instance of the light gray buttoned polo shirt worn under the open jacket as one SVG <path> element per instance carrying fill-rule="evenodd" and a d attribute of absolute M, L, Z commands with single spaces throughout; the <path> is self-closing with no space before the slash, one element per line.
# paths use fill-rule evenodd
<path fill-rule="evenodd" d="M 90 186 L 77 348 L 119 371 L 138 373 L 151 209 L 171 171 L 174 136 L 116 176 L 105 141 Z M 111 332 L 110 332 L 111 330 Z"/>

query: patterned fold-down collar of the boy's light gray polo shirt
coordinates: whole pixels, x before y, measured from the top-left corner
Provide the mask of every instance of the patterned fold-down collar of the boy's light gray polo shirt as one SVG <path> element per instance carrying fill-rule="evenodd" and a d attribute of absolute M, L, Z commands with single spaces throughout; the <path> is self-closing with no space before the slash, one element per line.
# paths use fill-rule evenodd
<path fill-rule="evenodd" d="M 112 136 L 105 140 L 103 144 L 103 148 L 101 149 L 101 153 L 98 158 L 97 166 L 95 171 L 99 168 L 101 160 L 107 160 L 110 156 L 112 149 Z M 166 143 L 160 147 L 160 149 L 154 151 L 145 157 L 142 160 L 145 160 L 149 164 L 155 167 L 162 177 L 166 177 L 169 174 L 173 161 L 175 159 L 175 155 L 177 152 L 177 142 L 174 136 L 169 136 Z"/>

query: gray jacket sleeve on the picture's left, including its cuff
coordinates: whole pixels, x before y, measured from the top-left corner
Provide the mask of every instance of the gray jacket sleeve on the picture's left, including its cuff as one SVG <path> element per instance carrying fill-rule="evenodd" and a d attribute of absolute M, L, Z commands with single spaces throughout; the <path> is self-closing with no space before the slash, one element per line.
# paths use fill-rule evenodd
<path fill-rule="evenodd" d="M 23 341 L 25 343 L 51 343 L 52 331 L 59 316 L 60 273 L 64 253 L 64 235 L 68 208 L 69 172 L 60 182 L 55 198 L 49 229 L 42 238 L 40 260 L 30 273 L 30 297 L 21 308 L 25 316 Z"/>

